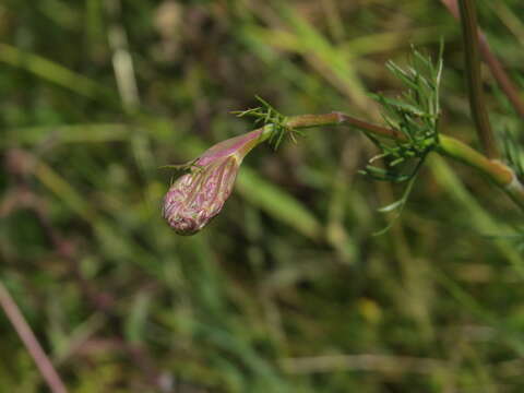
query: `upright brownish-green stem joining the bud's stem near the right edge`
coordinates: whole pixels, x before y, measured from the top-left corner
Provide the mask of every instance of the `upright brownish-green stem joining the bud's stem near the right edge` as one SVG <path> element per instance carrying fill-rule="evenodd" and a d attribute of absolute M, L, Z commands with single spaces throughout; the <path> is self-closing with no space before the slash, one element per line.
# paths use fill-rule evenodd
<path fill-rule="evenodd" d="M 499 156 L 497 144 L 484 100 L 475 3 L 474 0 L 458 0 L 458 4 L 461 10 L 462 36 L 464 38 L 469 107 L 477 128 L 478 138 L 480 139 L 486 155 L 489 158 L 497 158 Z"/>

